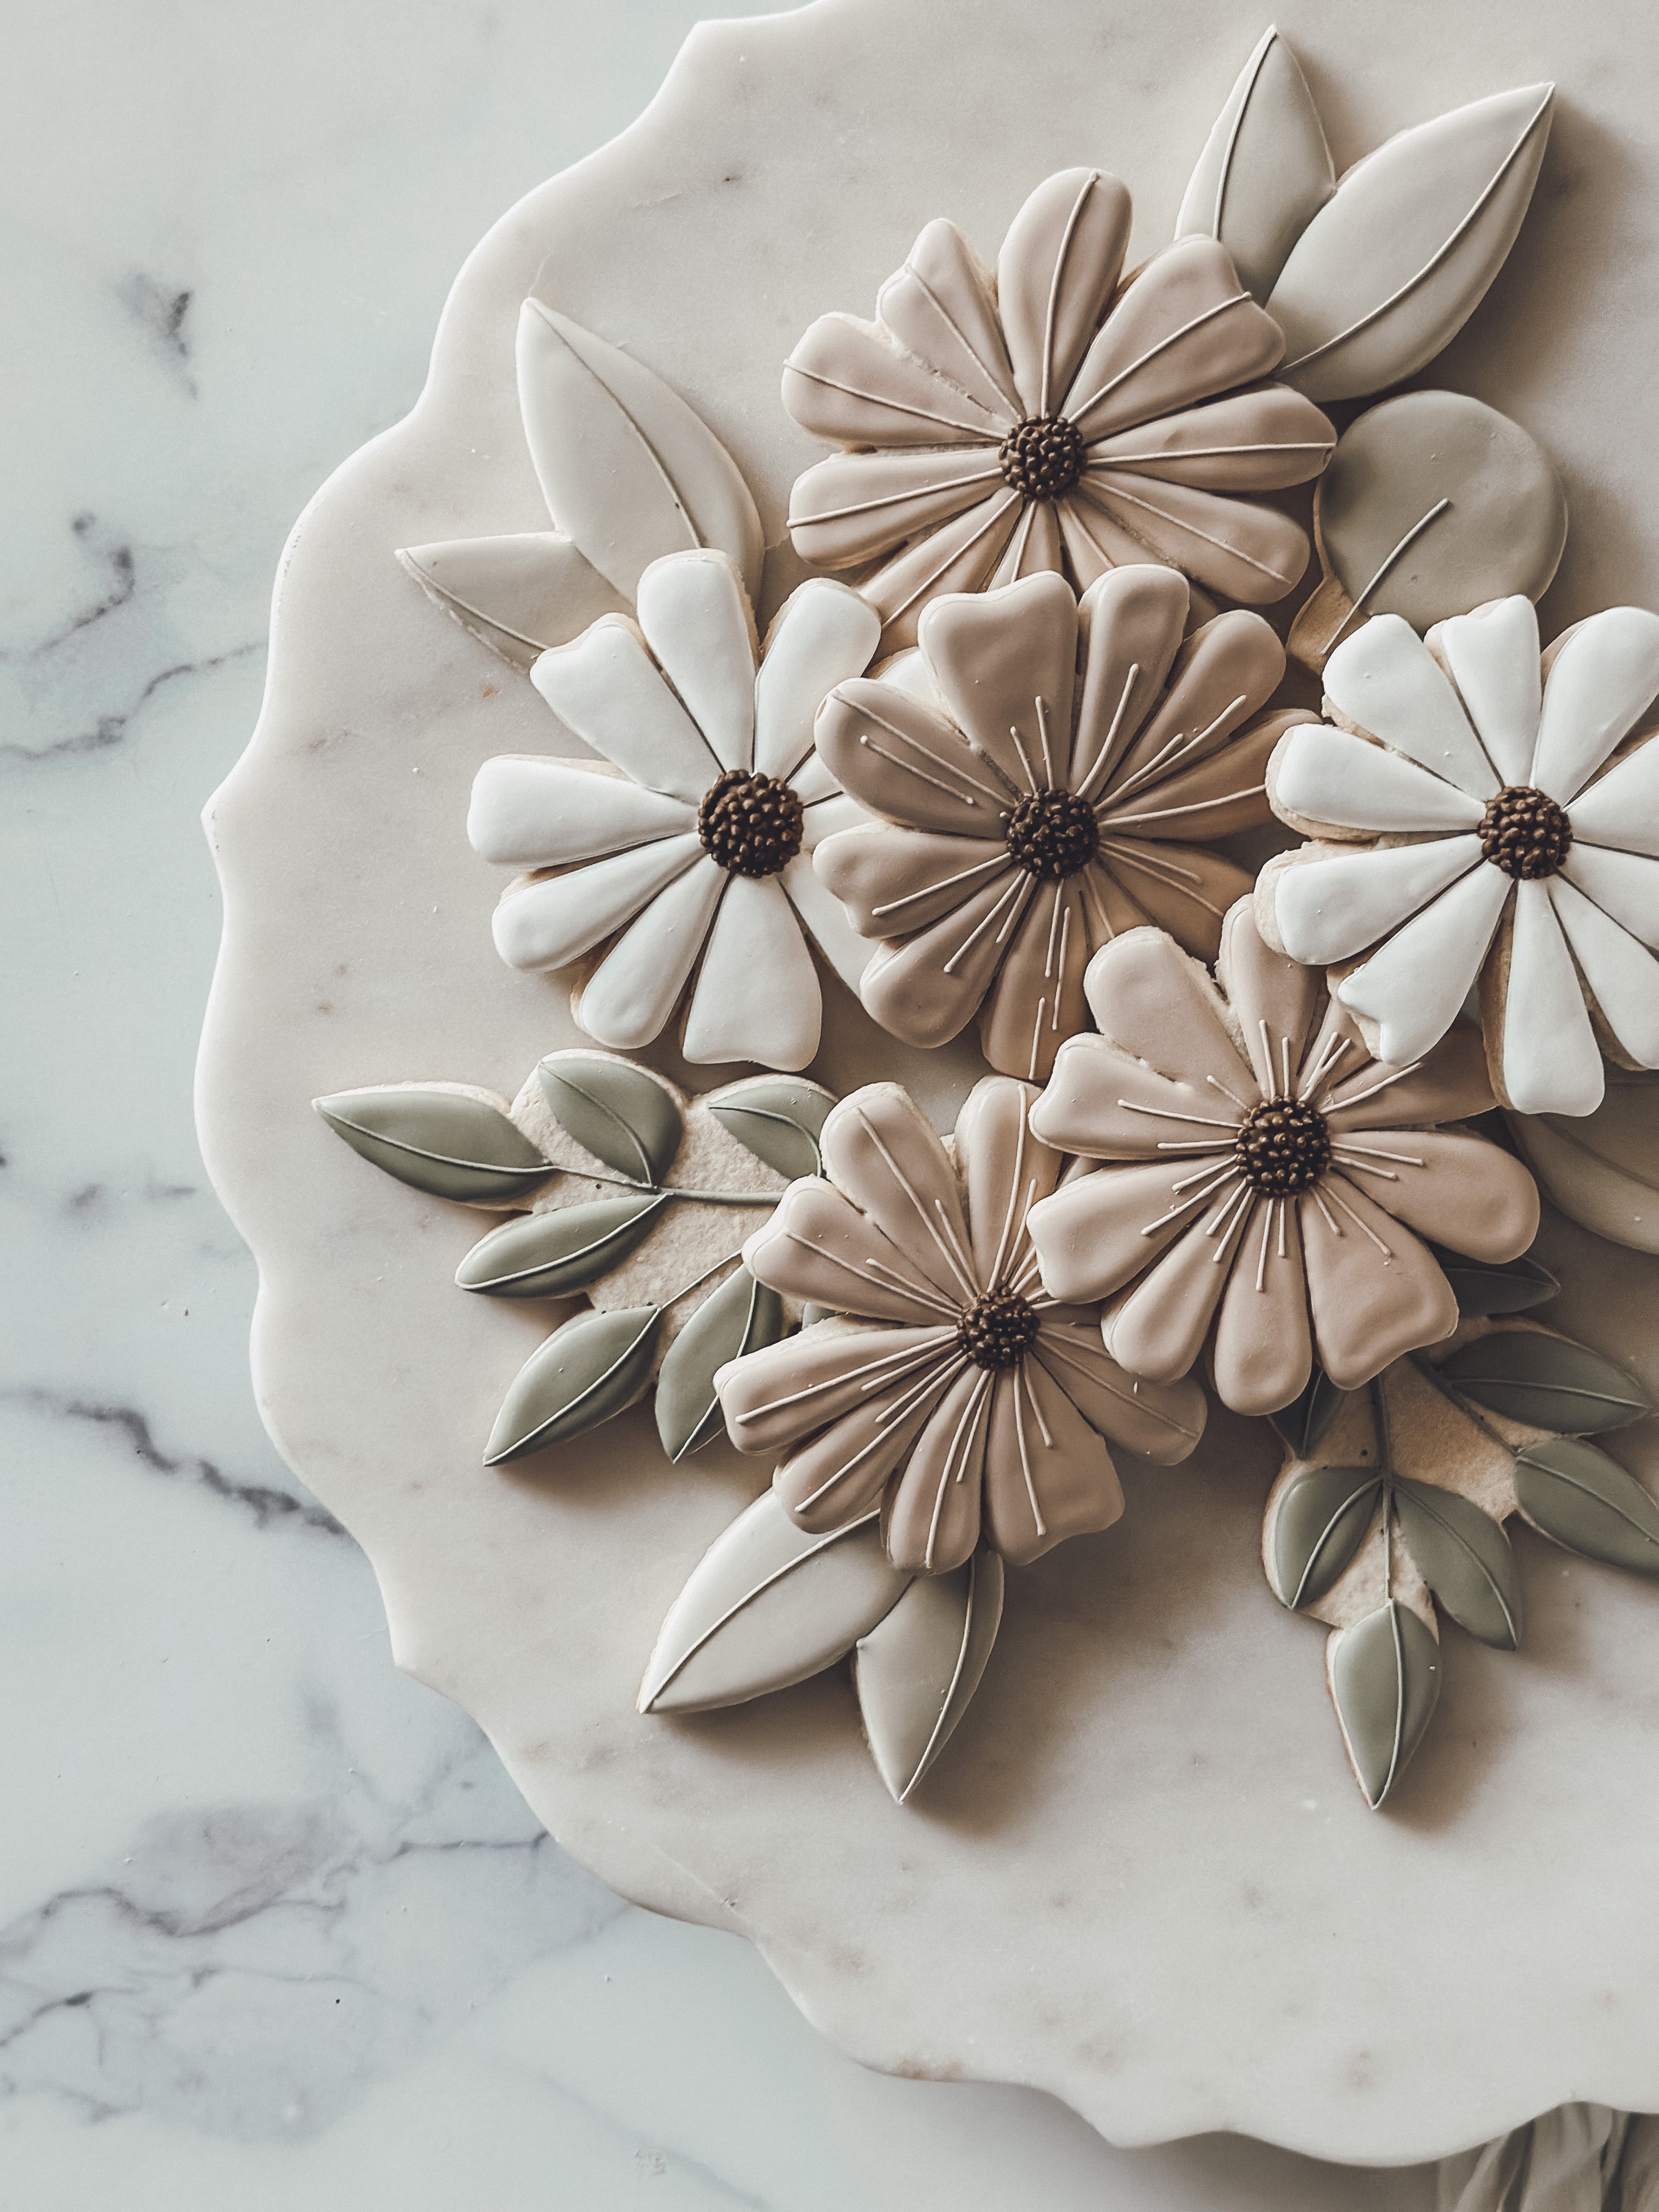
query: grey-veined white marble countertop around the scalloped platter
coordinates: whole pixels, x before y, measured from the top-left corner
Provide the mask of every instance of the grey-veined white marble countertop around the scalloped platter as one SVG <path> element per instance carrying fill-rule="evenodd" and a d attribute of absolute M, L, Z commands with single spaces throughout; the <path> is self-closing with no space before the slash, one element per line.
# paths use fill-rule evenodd
<path fill-rule="evenodd" d="M 473 241 L 697 13 L 9 24 L 0 2212 L 1418 2212 L 1425 2170 L 1117 2152 L 1044 2097 L 860 2073 L 745 1944 L 538 1832 L 394 1672 L 367 1564 L 254 1416 L 190 1066 L 197 812 L 254 721 L 276 555 L 411 405 Z"/>

